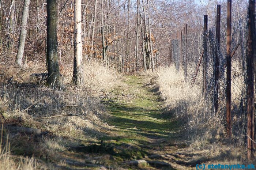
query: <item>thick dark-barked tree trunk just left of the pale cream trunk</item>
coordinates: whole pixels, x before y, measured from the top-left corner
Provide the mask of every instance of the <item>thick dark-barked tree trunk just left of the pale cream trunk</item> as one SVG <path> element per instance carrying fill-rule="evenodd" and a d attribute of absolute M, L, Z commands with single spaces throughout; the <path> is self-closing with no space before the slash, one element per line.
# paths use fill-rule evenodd
<path fill-rule="evenodd" d="M 57 3 L 56 0 L 47 0 L 47 57 L 48 80 L 52 88 L 61 87 L 59 58 L 57 52 Z"/>

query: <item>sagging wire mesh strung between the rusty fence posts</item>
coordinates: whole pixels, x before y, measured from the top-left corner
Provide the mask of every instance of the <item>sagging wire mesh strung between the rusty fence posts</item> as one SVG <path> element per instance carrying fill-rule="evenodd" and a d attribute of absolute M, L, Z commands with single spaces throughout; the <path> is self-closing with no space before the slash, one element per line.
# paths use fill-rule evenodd
<path fill-rule="evenodd" d="M 231 41 L 231 138 L 237 144 L 245 144 L 246 138 L 246 23 L 247 20 L 244 19 L 233 24 Z M 187 79 L 188 83 L 193 86 L 195 82 L 202 88 L 202 97 L 203 65 L 206 64 L 205 112 L 227 126 L 226 32 L 225 29 L 220 31 L 218 45 L 216 28 L 207 30 L 206 60 L 203 60 L 203 33 L 202 30 L 183 35 L 174 34 L 170 57 L 176 70 L 184 72 L 184 79 Z M 217 70 L 219 73 L 215 82 Z"/>

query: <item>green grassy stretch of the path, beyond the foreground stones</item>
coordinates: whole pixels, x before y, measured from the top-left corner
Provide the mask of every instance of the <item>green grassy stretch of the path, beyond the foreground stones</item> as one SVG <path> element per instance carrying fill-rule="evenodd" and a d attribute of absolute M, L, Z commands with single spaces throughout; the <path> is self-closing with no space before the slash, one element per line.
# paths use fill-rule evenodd
<path fill-rule="evenodd" d="M 127 76 L 123 86 L 114 90 L 108 106 L 120 140 L 147 144 L 149 141 L 170 137 L 176 125 L 162 115 L 163 102 L 155 88 L 147 85 L 143 77 Z"/>

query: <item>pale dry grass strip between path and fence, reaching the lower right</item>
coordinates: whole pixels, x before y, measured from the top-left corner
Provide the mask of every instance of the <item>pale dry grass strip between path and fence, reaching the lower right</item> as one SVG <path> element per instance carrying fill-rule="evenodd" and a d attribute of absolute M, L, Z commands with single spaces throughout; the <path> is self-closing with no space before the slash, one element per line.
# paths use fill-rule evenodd
<path fill-rule="evenodd" d="M 202 151 L 201 158 L 212 159 L 211 162 L 246 162 L 245 148 L 228 144 L 225 140 L 225 127 L 223 116 L 212 116 L 207 102 L 202 97 L 202 83 L 185 83 L 183 73 L 177 72 L 175 67 L 159 68 L 157 71 L 156 86 L 161 92 L 161 97 L 166 101 L 166 108 L 183 125 L 182 136 L 189 148 L 186 154 Z M 237 89 L 233 89 L 239 92 Z M 207 160 L 206 159 L 206 160 Z"/>

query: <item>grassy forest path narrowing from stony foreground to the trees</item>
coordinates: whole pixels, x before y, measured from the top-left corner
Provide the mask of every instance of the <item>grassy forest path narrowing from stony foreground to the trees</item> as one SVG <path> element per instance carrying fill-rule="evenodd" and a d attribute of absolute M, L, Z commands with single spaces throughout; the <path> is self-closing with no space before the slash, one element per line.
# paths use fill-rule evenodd
<path fill-rule="evenodd" d="M 121 84 L 105 99 L 107 121 L 114 131 L 102 137 L 118 146 L 117 159 L 123 167 L 143 170 L 188 169 L 185 160 L 176 151 L 182 144 L 174 139 L 180 127 L 169 114 L 164 113 L 164 102 L 150 77 L 124 76 Z"/>

